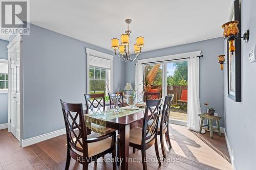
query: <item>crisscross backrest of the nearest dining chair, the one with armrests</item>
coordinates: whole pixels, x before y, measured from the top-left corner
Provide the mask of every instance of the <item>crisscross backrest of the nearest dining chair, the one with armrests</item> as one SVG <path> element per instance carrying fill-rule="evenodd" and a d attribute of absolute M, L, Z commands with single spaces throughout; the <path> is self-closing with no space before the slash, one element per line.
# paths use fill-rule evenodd
<path fill-rule="evenodd" d="M 87 130 L 83 118 L 82 104 L 71 104 L 62 100 L 60 100 L 60 104 L 65 120 L 68 150 L 76 150 L 84 153 L 83 156 L 88 156 Z M 82 140 L 80 140 L 81 138 Z M 77 147 L 77 145 L 81 147 Z"/>

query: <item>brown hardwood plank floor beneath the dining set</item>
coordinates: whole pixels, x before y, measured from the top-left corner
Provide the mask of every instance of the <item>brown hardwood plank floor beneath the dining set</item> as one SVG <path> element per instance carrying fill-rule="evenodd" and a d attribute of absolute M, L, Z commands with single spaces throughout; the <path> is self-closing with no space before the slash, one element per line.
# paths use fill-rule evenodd
<path fill-rule="evenodd" d="M 147 163 L 149 170 L 232 169 L 231 164 L 226 159 L 199 139 L 193 132 L 188 131 L 186 127 L 170 124 L 169 130 L 173 148 L 166 152 L 166 155 L 168 158 L 173 158 L 177 161 L 175 163 L 162 162 L 160 167 L 158 167 L 157 162 L 150 162 Z M 209 138 L 209 134 L 205 134 L 204 137 Z M 217 139 L 217 133 L 214 134 L 215 137 Z M 225 140 L 225 138 L 222 137 L 222 140 Z M 214 139 L 211 141 L 214 141 Z M 20 148 L 16 138 L 11 133 L 8 133 L 7 129 L 0 130 L 0 170 L 65 169 L 66 144 L 66 135 L 61 135 L 26 148 Z M 217 148 L 220 145 L 220 148 L 226 150 L 226 145 L 223 142 L 215 142 L 215 145 L 217 145 Z M 159 152 L 162 158 L 160 143 Z M 146 155 L 148 158 L 155 158 L 154 147 L 148 149 Z M 105 158 L 111 158 L 111 155 L 106 155 Z M 132 148 L 130 148 L 130 158 L 134 158 L 134 162 L 129 163 L 129 169 L 142 169 L 142 164 L 139 163 L 141 161 L 140 151 L 136 151 L 133 154 Z M 82 166 L 71 159 L 70 169 L 82 169 Z M 112 169 L 112 163 L 99 159 L 97 163 L 90 163 L 89 169 Z"/>

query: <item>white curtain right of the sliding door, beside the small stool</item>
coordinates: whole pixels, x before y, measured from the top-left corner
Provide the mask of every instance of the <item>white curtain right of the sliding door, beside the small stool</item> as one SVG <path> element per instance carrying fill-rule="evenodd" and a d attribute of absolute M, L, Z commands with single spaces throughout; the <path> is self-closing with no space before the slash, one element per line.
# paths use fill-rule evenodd
<path fill-rule="evenodd" d="M 187 129 L 199 132 L 200 118 L 198 114 L 201 114 L 201 108 L 199 99 L 199 58 L 196 56 L 191 56 L 188 60 L 187 91 Z"/>

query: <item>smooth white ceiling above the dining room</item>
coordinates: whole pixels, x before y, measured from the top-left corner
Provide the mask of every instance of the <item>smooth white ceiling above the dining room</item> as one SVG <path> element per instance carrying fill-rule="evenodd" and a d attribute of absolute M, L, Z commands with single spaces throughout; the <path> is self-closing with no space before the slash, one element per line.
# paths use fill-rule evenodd
<path fill-rule="evenodd" d="M 143 51 L 222 36 L 233 0 L 36 0 L 30 1 L 34 25 L 112 50 L 111 39 L 126 30 L 130 42 L 144 36 Z"/>

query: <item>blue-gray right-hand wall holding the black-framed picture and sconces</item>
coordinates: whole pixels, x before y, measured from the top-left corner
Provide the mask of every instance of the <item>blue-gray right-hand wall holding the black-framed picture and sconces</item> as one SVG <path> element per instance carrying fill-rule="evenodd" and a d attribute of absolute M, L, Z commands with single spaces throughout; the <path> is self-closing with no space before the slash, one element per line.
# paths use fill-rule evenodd
<path fill-rule="evenodd" d="M 249 42 L 241 41 L 241 103 L 228 98 L 227 70 L 224 72 L 225 130 L 233 151 L 234 165 L 238 170 L 256 168 L 256 63 L 249 63 L 248 60 L 249 52 L 256 45 L 255 7 L 255 0 L 241 1 L 241 33 L 250 30 Z"/>

